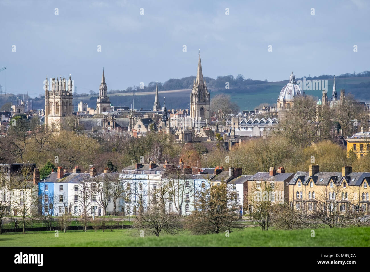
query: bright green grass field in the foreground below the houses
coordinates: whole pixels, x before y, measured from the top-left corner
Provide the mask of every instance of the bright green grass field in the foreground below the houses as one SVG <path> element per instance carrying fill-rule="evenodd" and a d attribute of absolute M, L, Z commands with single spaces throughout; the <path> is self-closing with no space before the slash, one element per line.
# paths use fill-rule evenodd
<path fill-rule="evenodd" d="M 54 231 L 4 233 L 0 246 L 370 246 L 370 227 L 261 231 L 245 228 L 222 234 L 209 235 L 160 235 L 140 237 L 133 229 L 114 231 L 94 230 L 59 232 Z"/>

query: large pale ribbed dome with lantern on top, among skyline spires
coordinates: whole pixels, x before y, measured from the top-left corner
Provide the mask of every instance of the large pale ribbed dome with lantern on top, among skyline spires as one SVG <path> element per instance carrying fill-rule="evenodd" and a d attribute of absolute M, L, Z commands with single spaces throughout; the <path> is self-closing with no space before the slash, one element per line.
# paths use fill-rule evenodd
<path fill-rule="evenodd" d="M 294 98 L 299 95 L 305 95 L 305 92 L 296 83 L 296 77 L 292 72 L 289 77 L 289 83 L 281 89 L 280 94 L 277 97 L 277 109 L 289 110 L 293 107 Z"/>

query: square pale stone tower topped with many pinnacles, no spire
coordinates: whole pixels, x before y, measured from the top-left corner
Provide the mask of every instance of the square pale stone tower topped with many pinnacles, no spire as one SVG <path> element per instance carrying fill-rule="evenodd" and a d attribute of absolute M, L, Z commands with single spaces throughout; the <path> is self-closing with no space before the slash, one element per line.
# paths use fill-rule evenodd
<path fill-rule="evenodd" d="M 72 79 L 68 80 L 68 85 L 65 78 L 57 77 L 51 80 L 51 90 L 49 90 L 49 82 L 46 78 L 45 82 L 45 126 L 55 125 L 58 129 L 61 128 L 63 117 L 71 116 L 73 111 L 72 103 Z"/>

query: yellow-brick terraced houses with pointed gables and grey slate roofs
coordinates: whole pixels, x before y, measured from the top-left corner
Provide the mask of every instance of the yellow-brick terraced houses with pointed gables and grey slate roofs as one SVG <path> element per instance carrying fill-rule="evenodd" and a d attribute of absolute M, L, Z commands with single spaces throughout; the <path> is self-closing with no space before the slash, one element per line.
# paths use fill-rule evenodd
<path fill-rule="evenodd" d="M 345 214 L 347 211 L 369 214 L 369 172 L 320 172 L 319 165 L 297 172 L 289 182 L 289 204 L 307 214 Z"/>

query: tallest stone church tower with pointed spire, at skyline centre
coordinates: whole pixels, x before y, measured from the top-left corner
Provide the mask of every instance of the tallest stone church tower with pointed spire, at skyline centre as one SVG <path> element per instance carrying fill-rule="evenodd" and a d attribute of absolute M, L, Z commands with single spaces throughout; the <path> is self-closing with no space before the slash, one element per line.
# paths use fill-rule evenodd
<path fill-rule="evenodd" d="M 210 95 L 206 81 L 203 81 L 201 54 L 199 53 L 198 72 L 190 94 L 190 117 L 193 121 L 205 121 L 209 124 L 211 114 Z"/>

